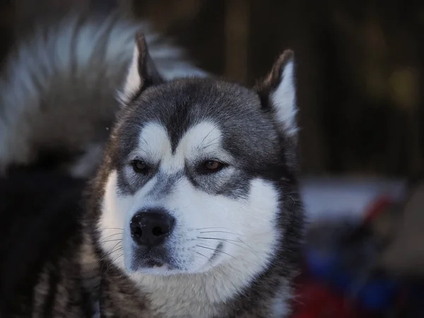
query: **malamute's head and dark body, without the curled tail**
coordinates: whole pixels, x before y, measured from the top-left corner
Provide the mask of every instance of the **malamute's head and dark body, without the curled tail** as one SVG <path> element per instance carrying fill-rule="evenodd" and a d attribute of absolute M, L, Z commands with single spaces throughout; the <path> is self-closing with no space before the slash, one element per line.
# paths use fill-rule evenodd
<path fill-rule="evenodd" d="M 137 33 L 88 204 L 71 193 L 62 216 L 16 221 L 1 269 L 26 276 L 0 283 L 1 317 L 288 317 L 303 225 L 294 71 L 284 52 L 254 88 L 166 79 Z"/>

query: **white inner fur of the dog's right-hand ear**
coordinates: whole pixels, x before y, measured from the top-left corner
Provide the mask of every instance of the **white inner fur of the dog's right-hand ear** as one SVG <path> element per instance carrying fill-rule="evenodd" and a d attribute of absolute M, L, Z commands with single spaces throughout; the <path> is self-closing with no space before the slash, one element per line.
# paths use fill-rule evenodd
<path fill-rule="evenodd" d="M 296 107 L 296 90 L 294 80 L 294 63 L 288 61 L 285 64 L 281 82 L 271 93 L 271 100 L 276 107 L 276 119 L 280 122 L 285 133 L 293 136 L 297 133 L 295 117 L 298 112 Z"/>

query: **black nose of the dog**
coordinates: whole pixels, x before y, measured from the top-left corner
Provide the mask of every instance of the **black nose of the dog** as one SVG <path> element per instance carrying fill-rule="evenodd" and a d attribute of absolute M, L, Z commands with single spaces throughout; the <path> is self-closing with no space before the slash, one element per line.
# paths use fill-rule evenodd
<path fill-rule="evenodd" d="M 165 241 L 172 231 L 175 219 L 164 210 L 141 211 L 131 219 L 129 227 L 134 242 L 139 245 L 154 247 Z"/>

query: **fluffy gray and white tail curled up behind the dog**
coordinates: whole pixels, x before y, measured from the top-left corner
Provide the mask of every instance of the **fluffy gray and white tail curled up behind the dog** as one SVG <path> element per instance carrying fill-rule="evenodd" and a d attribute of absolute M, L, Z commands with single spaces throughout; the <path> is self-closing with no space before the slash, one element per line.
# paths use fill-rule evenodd
<path fill-rule="evenodd" d="M 115 96 L 138 30 L 165 78 L 206 75 L 146 23 L 73 15 L 40 26 L 18 43 L 0 79 L 0 170 L 30 165 L 44 153 L 64 153 L 78 158 L 66 163 L 72 175 L 93 172 L 119 107 Z"/>

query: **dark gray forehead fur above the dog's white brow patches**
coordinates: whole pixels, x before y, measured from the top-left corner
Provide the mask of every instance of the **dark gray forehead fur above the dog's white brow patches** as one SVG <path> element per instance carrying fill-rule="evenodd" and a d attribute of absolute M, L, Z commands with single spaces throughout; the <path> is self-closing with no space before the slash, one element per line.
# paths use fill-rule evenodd
<path fill-rule="evenodd" d="M 233 155 L 276 159 L 279 136 L 257 93 L 235 83 L 189 78 L 153 86 L 124 108 L 117 136 L 122 154 L 139 144 L 143 127 L 163 126 L 175 151 L 185 133 L 203 122 L 220 129 L 223 147 Z"/>

